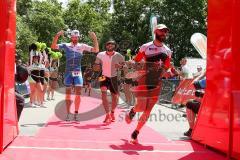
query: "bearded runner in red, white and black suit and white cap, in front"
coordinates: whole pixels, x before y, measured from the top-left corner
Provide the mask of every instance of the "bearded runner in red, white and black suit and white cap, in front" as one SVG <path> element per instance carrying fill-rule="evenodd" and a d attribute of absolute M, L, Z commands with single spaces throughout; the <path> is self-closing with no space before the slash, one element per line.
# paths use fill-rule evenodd
<path fill-rule="evenodd" d="M 138 125 L 131 135 L 131 143 L 138 143 L 137 136 L 148 120 L 153 106 L 158 101 L 158 95 L 160 94 L 161 88 L 161 76 L 164 70 L 170 67 L 170 59 L 172 51 L 163 43 L 167 37 L 169 29 L 164 24 L 159 24 L 156 26 L 155 40 L 146 43 L 140 47 L 138 54 L 136 55 L 134 61 L 143 61 L 145 64 L 146 77 L 143 80 L 145 95 L 136 96 L 136 104 L 126 114 L 125 120 L 130 123 L 135 116 L 136 112 L 143 112 L 140 119 L 138 120 Z M 157 96 L 151 96 L 152 91 L 156 90 Z"/>

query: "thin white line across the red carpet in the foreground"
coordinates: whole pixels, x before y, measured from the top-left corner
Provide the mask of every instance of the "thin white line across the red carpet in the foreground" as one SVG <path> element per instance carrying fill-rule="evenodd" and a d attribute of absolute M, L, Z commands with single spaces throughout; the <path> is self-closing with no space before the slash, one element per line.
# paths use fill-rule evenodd
<path fill-rule="evenodd" d="M 206 151 L 188 150 L 124 150 L 124 149 L 101 149 L 101 148 L 59 148 L 59 147 L 28 147 L 28 146 L 9 146 L 10 149 L 36 149 L 36 150 L 62 150 L 62 151 L 95 151 L 95 152 L 140 152 L 140 153 L 208 153 Z"/>

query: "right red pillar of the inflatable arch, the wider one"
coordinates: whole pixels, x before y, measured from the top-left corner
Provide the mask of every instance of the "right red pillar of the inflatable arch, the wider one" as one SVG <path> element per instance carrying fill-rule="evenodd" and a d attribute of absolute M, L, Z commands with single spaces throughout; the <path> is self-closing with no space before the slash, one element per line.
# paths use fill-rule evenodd
<path fill-rule="evenodd" d="M 193 139 L 240 158 L 240 1 L 208 1 L 207 89 Z"/>

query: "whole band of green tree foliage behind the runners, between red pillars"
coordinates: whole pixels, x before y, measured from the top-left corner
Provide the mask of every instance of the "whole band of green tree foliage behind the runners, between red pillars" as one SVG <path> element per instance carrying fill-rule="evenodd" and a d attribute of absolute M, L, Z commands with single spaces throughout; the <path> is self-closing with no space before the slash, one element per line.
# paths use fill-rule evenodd
<path fill-rule="evenodd" d="M 114 0 L 112 5 L 110 13 L 111 0 L 71 0 L 66 8 L 58 0 L 18 0 L 18 52 L 25 53 L 26 46 L 36 40 L 50 45 L 53 36 L 67 28 L 80 30 L 81 41 L 90 45 L 88 32 L 94 31 L 100 50 L 107 40 L 114 39 L 118 50 L 125 52 L 152 40 L 149 21 L 151 15 L 157 15 L 158 23 L 171 30 L 166 43 L 173 50 L 174 61 L 199 57 L 190 37 L 195 32 L 206 34 L 206 0 Z"/>

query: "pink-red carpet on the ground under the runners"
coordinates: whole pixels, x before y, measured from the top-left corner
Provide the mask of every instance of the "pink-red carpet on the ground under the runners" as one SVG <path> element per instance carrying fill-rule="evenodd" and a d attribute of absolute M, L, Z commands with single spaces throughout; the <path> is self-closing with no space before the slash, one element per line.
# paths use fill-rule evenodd
<path fill-rule="evenodd" d="M 127 125 L 122 109 L 116 122 L 103 125 L 101 100 L 82 98 L 80 122 L 65 122 L 55 115 L 35 137 L 19 136 L 0 155 L 1 160 L 223 160 L 219 153 L 192 141 L 169 141 L 145 126 L 140 144 L 128 143 L 136 121 Z M 62 107 L 60 107 L 61 110 Z M 91 118 L 93 111 L 95 117 Z M 85 117 L 84 117 L 85 116 Z M 99 117 L 98 117 L 99 116 Z"/>

